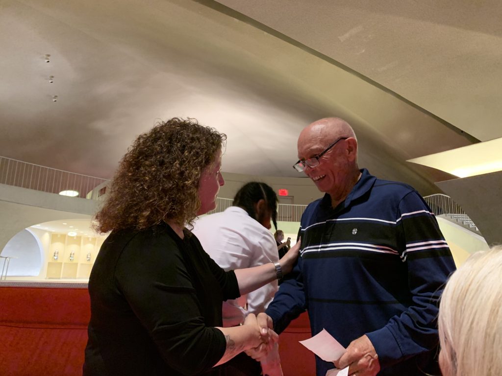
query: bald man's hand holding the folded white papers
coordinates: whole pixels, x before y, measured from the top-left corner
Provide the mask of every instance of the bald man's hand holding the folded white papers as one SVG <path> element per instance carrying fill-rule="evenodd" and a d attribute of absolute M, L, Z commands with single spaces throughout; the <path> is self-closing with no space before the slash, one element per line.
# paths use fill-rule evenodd
<path fill-rule="evenodd" d="M 380 371 L 378 355 L 367 335 L 350 342 L 347 351 L 333 363 L 339 369 L 348 365 L 349 376 L 375 376 Z"/>

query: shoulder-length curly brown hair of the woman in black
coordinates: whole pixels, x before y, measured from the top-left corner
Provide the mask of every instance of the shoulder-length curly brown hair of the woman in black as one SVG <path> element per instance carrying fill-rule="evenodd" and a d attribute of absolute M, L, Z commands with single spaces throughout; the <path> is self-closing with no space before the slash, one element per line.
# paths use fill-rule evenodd
<path fill-rule="evenodd" d="M 195 119 L 159 122 L 134 141 L 95 215 L 95 230 L 146 229 L 166 221 L 191 225 L 200 208 L 199 179 L 226 140 Z"/>

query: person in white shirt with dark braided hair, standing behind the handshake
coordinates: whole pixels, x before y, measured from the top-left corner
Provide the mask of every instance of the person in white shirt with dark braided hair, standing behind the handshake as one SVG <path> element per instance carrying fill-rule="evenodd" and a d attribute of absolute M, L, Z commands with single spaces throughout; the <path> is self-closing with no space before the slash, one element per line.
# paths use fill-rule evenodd
<path fill-rule="evenodd" d="M 276 241 L 269 231 L 271 222 L 277 229 L 277 203 L 272 187 L 262 182 L 248 182 L 237 192 L 231 207 L 199 218 L 192 232 L 224 270 L 278 261 Z M 223 326 L 240 325 L 247 314 L 264 312 L 277 290 L 276 280 L 238 299 L 223 302 Z M 262 371 L 260 363 L 245 353 L 232 359 L 232 363 L 235 375 L 260 375 Z"/>

